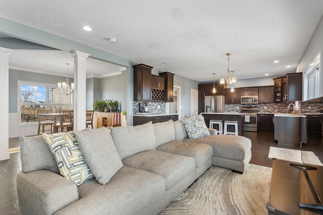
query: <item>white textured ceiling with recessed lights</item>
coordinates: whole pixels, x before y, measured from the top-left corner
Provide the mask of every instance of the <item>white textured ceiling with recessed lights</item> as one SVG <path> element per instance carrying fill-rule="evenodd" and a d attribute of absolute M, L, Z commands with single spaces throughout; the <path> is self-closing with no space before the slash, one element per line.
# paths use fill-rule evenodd
<path fill-rule="evenodd" d="M 198 82 L 211 82 L 212 73 L 217 80 L 226 74 L 227 52 L 232 53 L 230 70 L 238 81 L 294 73 L 322 14 L 322 0 L 97 0 L 95 4 L 2 0 L 0 4 L 2 18 Z M 85 25 L 92 31 L 84 31 Z M 21 52 L 17 60 L 10 59 L 10 65 L 26 66 L 26 62 L 18 65 L 18 59 L 32 53 Z M 28 59 L 32 69 L 50 71 L 56 66 L 53 58 L 46 61 L 43 53 L 33 54 L 43 63 Z M 47 54 L 66 57 L 64 51 L 63 56 L 59 51 Z M 58 70 L 65 73 L 66 65 L 60 64 Z M 106 75 L 102 67 L 101 74 L 95 67 L 94 77 Z M 114 73 L 119 67 L 114 67 Z"/>

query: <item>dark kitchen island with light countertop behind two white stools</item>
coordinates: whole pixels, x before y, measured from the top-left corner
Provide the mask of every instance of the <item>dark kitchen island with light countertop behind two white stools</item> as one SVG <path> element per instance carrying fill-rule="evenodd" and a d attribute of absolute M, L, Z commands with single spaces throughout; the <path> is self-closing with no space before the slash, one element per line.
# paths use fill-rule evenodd
<path fill-rule="evenodd" d="M 206 126 L 209 126 L 210 119 L 217 119 L 217 120 L 223 120 L 222 125 L 224 126 L 225 120 L 231 120 L 231 121 L 238 121 L 238 134 L 243 135 L 244 131 L 244 113 L 237 113 L 237 112 L 225 112 L 225 113 L 201 113 L 204 117 L 204 121 Z M 222 128 L 224 130 L 224 128 Z M 229 125 L 228 131 L 233 132 L 234 126 Z"/>

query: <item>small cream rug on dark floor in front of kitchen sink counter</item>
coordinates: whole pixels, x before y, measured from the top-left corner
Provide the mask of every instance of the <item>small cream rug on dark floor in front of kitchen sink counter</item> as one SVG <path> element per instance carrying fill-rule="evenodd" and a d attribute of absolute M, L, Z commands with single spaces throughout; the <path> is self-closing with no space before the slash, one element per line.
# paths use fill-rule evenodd
<path fill-rule="evenodd" d="M 277 158 L 279 160 L 291 161 L 295 163 L 302 163 L 302 160 L 306 164 L 312 164 L 316 166 L 323 166 L 318 157 L 310 151 L 300 151 L 284 149 L 279 147 L 271 147 L 269 149 L 268 158 Z"/>

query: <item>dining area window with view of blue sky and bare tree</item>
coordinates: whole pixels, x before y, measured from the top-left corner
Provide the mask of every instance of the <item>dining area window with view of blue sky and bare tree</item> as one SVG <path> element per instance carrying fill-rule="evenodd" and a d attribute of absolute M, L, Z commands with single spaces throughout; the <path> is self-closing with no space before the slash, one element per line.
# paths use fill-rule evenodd
<path fill-rule="evenodd" d="M 38 110 L 50 109 L 55 113 L 72 109 L 72 95 L 66 95 L 57 86 L 18 81 L 20 93 L 20 122 L 38 122 Z"/>

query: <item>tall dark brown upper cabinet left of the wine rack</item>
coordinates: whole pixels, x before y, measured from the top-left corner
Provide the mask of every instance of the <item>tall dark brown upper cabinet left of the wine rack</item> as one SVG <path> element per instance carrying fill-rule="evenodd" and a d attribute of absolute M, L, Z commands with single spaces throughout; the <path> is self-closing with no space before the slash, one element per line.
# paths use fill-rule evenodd
<path fill-rule="evenodd" d="M 151 69 L 153 67 L 138 64 L 133 65 L 133 100 L 150 101 Z"/>

